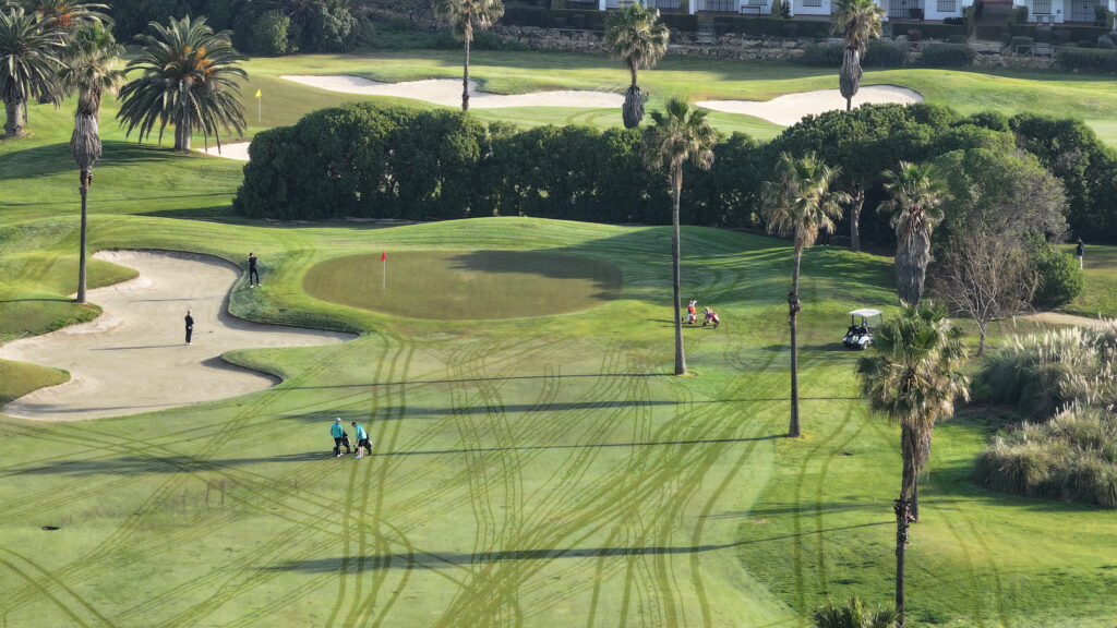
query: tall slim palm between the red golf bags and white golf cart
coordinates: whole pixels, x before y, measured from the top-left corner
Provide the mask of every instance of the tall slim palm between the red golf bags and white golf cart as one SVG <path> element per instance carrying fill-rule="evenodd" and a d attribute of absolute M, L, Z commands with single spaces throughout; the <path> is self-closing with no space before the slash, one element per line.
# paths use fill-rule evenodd
<path fill-rule="evenodd" d="M 787 317 L 791 325 L 791 427 L 787 436 L 799 437 L 799 346 L 795 340 L 799 303 L 799 268 L 803 249 L 814 245 L 819 231 L 833 231 L 834 220 L 841 219 L 842 203 L 849 194 L 830 187 L 841 169 L 830 168 L 813 152 L 803 159 L 789 153 L 780 155 L 776 179 L 764 184 L 764 207 L 770 234 L 791 236 L 795 242 L 795 266 L 787 293 Z"/>

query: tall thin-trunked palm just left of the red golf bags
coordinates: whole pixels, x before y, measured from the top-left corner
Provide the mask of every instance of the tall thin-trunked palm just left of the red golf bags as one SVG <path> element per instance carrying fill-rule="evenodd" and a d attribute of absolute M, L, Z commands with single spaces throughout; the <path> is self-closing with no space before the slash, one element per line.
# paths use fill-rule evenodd
<path fill-rule="evenodd" d="M 675 374 L 687 372 L 682 353 L 682 318 L 679 311 L 679 196 L 682 164 L 689 161 L 703 170 L 714 163 L 717 133 L 706 120 L 706 110 L 691 110 L 682 98 L 671 98 L 665 111 L 651 112 L 652 125 L 643 133 L 643 155 L 648 165 L 667 170 L 671 181 L 671 272 L 675 280 Z"/>

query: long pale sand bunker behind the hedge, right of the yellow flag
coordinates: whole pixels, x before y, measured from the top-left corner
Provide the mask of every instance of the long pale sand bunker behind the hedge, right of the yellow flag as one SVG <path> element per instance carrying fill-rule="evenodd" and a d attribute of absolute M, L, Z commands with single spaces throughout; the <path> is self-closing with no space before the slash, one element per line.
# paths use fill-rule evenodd
<path fill-rule="evenodd" d="M 461 106 L 461 80 L 439 78 L 408 83 L 378 83 L 360 76 L 284 76 L 283 78 L 330 92 L 365 96 L 395 96 L 426 101 L 448 107 Z M 609 92 L 536 92 L 534 94 L 491 94 L 479 92 L 469 82 L 469 106 L 477 110 L 507 107 L 611 108 L 624 104 L 624 96 Z"/>

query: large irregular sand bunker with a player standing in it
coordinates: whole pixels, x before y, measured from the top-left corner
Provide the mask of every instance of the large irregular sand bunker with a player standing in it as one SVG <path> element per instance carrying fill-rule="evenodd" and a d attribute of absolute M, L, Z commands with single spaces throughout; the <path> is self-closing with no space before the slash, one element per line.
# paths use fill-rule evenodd
<path fill-rule="evenodd" d="M 0 346 L 0 358 L 66 369 L 71 375 L 64 384 L 8 403 L 4 413 L 76 420 L 226 399 L 276 383 L 274 378 L 220 360 L 227 351 L 319 345 L 354 337 L 233 317 L 227 302 L 239 270 L 213 257 L 142 251 L 96 257 L 135 268 L 140 277 L 89 291 L 89 301 L 104 308 L 92 323 Z M 187 310 L 194 318 L 189 346 Z"/>

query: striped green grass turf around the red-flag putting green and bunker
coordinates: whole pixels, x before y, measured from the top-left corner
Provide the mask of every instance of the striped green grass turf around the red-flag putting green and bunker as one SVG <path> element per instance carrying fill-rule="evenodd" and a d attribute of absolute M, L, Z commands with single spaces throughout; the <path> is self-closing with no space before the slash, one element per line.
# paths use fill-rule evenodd
<path fill-rule="evenodd" d="M 401 77 L 423 64 L 456 72 L 454 55 L 438 55 L 367 58 Z M 349 69 L 346 59 L 254 60 L 271 116 L 264 125 L 346 99 L 275 76 L 367 69 Z M 622 73 L 598 57 L 478 59 L 494 88 L 506 67 L 523 68 L 509 84 L 526 85 L 534 73 L 623 86 Z M 546 64 L 555 77 L 541 72 Z M 655 97 L 770 97 L 837 83 L 820 70 L 698 59 L 668 59 L 659 72 L 645 73 Z M 901 75 L 962 110 L 982 99 L 1006 111 L 1029 99 L 1049 106 L 1059 93 L 1059 106 L 1073 110 L 1089 93 L 1104 101 L 1090 120 L 1109 115 L 1105 94 L 1114 89 L 1081 75 L 867 78 Z M 114 107 L 106 101 L 106 115 Z M 533 124 L 554 114 L 516 115 Z M 96 313 L 67 301 L 78 223 L 70 116 L 32 107 L 31 136 L 0 142 L 0 342 Z M 787 242 L 684 228 L 685 294 L 714 305 L 723 325 L 686 330 L 694 375 L 675 378 L 668 228 L 527 218 L 248 222 L 228 211 L 240 164 L 137 149 L 107 118 L 102 129 L 92 250 L 241 261 L 249 247 L 267 287 L 235 286 L 235 314 L 362 335 L 231 354 L 285 378 L 241 398 L 79 424 L 0 418 L 6 625 L 806 627 L 828 599 L 890 599 L 898 431 L 857 399 L 857 354 L 839 348 L 848 310 L 894 311 L 889 259 L 806 253 L 804 438 L 790 441 L 780 438 Z M 610 263 L 624 283 L 595 308 L 484 322 L 405 318 L 303 289 L 317 265 L 381 250 L 393 261 L 410 251 L 548 251 Z M 1113 250 L 1090 247 L 1088 263 Z M 1113 274 L 1096 268 L 1087 296 L 1113 291 Z M 90 265 L 94 285 L 130 276 Z M 992 342 L 1012 330 L 997 326 Z M 0 394 L 12 394 L 12 382 L 61 377 L 10 363 L 0 375 Z M 915 625 L 1110 628 L 1115 514 L 974 485 L 973 460 L 997 425 L 987 413 L 971 408 L 936 432 L 925 517 L 908 551 Z M 373 455 L 328 458 L 334 417 L 362 421 Z"/>

